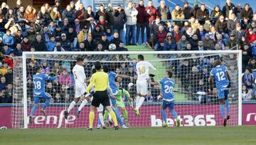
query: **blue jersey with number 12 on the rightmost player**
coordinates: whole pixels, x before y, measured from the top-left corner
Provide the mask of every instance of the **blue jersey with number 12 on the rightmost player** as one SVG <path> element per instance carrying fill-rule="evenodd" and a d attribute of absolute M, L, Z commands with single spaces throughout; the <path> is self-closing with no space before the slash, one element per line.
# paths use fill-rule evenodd
<path fill-rule="evenodd" d="M 225 72 L 228 71 L 227 66 L 218 65 L 210 71 L 210 76 L 213 76 L 216 81 L 216 88 L 225 88 L 228 86 L 228 77 Z"/>

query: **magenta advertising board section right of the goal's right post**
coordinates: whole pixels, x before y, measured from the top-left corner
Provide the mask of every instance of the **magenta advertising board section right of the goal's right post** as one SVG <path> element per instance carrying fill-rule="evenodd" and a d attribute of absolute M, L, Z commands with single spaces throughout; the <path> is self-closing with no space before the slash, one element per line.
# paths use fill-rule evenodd
<path fill-rule="evenodd" d="M 244 125 L 256 124 L 256 104 L 242 105 L 242 124 Z"/>

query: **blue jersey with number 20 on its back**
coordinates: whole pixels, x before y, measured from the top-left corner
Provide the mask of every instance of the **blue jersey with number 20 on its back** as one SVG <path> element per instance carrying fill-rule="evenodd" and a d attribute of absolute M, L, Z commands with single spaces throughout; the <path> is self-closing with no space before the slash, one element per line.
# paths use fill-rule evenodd
<path fill-rule="evenodd" d="M 159 84 L 161 84 L 161 90 L 164 95 L 164 99 L 166 101 L 173 101 L 174 100 L 174 81 L 169 78 L 164 78 L 161 81 L 159 81 Z"/>

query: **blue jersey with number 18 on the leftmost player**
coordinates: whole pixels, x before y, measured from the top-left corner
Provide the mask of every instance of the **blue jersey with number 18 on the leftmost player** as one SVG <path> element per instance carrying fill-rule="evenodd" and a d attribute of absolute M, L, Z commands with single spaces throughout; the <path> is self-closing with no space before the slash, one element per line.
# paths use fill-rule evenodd
<path fill-rule="evenodd" d="M 36 95 L 40 95 L 41 93 L 45 93 L 46 80 L 55 80 L 57 76 L 48 76 L 46 74 L 35 74 L 33 75 L 33 92 Z"/>

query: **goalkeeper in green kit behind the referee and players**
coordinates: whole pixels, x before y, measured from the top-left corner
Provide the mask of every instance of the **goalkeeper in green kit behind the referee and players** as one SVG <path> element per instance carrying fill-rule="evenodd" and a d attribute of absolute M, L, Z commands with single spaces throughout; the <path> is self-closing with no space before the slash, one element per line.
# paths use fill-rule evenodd
<path fill-rule="evenodd" d="M 128 112 L 125 108 L 125 104 L 124 101 L 122 100 L 122 96 L 124 95 L 125 97 L 127 97 L 127 99 L 129 100 L 129 105 L 133 106 L 132 104 L 132 98 L 130 98 L 130 94 L 128 91 L 126 91 L 124 88 L 120 88 L 120 83 L 118 81 L 115 82 L 115 85 L 117 86 L 117 104 L 116 107 L 119 109 L 122 109 L 122 112 L 124 114 L 124 123 L 127 127 L 129 127 L 129 122 L 128 122 Z M 108 116 L 108 112 L 106 111 L 104 114 L 104 121 L 107 120 L 107 116 Z"/>

